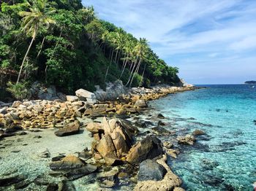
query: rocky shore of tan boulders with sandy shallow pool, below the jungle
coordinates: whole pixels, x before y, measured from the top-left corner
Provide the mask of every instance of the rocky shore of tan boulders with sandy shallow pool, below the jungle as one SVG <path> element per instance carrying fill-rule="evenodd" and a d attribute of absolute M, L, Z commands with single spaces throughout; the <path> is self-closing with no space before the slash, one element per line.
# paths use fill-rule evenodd
<path fill-rule="evenodd" d="M 0 190 L 183 190 L 166 162 L 179 151 L 159 139 L 173 133 L 165 117 L 158 114 L 147 132 L 150 122 L 140 114 L 148 101 L 195 88 L 126 90 L 116 82 L 95 93 L 63 95 L 50 88 L 39 91 L 48 100 L 0 103 Z M 194 144 L 203 133 L 176 142 Z"/>

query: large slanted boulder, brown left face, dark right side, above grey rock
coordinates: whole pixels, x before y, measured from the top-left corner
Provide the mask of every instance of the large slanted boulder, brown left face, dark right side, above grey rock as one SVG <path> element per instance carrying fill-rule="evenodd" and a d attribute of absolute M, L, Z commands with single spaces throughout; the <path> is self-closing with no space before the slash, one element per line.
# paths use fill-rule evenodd
<path fill-rule="evenodd" d="M 127 161 L 132 164 L 141 163 L 143 160 L 153 159 L 162 153 L 161 141 L 155 136 L 147 136 L 129 150 Z"/>

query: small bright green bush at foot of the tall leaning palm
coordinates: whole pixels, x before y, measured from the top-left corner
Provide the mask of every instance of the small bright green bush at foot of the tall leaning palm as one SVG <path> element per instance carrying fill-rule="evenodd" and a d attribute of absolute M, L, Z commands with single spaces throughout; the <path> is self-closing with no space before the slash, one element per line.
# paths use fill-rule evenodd
<path fill-rule="evenodd" d="M 18 100 L 28 98 L 29 90 L 26 87 L 26 82 L 18 82 L 13 84 L 12 82 L 7 83 L 7 91 L 12 93 L 12 96 Z"/>

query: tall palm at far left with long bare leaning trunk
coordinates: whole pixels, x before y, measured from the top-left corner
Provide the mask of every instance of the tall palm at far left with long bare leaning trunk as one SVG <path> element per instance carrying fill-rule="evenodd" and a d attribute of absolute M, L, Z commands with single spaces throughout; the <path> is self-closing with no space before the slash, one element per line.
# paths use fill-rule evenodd
<path fill-rule="evenodd" d="M 29 4 L 28 1 L 29 11 L 19 12 L 19 15 L 23 17 L 22 31 L 24 31 L 28 36 L 31 36 L 32 39 L 21 63 L 20 72 L 16 84 L 18 84 L 18 82 L 20 81 L 20 74 L 22 72 L 24 62 L 26 61 L 26 57 L 29 55 L 29 50 L 31 49 L 34 39 L 36 39 L 39 29 L 42 27 L 48 28 L 51 23 L 55 23 L 55 21 L 50 18 L 50 14 L 53 13 L 53 10 L 46 8 L 47 3 L 47 0 L 33 0 L 32 4 Z"/>

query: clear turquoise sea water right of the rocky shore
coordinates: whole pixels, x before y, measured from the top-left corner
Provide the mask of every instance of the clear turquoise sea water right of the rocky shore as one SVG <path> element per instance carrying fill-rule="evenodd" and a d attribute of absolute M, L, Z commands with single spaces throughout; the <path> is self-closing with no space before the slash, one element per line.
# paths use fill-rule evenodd
<path fill-rule="evenodd" d="M 202 129 L 194 146 L 182 147 L 173 171 L 186 190 L 253 190 L 256 182 L 256 88 L 204 85 L 151 104 L 178 134 Z M 195 119 L 193 119 L 193 118 Z M 181 148 L 180 148 L 181 149 Z"/>

